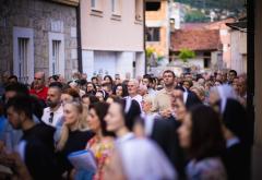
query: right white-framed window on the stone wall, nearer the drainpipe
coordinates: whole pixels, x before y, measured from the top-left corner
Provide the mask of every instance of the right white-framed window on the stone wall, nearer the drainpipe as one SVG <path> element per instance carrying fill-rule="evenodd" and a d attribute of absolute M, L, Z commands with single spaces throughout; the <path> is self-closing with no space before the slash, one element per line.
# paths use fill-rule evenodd
<path fill-rule="evenodd" d="M 64 76 L 64 35 L 62 33 L 48 33 L 49 38 L 49 75 Z"/>

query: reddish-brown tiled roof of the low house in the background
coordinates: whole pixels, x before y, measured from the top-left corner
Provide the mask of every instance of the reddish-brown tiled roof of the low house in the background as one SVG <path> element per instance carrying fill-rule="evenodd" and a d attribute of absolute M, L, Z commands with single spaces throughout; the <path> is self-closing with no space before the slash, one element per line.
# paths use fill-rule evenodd
<path fill-rule="evenodd" d="M 218 50 L 221 39 L 218 29 L 178 29 L 171 33 L 170 50 Z"/>

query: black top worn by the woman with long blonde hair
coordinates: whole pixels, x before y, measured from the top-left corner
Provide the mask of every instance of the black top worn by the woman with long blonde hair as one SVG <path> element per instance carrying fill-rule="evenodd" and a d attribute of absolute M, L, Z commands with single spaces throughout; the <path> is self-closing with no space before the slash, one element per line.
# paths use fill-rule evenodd
<path fill-rule="evenodd" d="M 57 153 L 58 164 L 60 167 L 60 173 L 64 171 L 70 171 L 73 169 L 73 166 L 68 159 L 68 155 L 73 152 L 82 151 L 86 147 L 90 139 L 94 136 L 94 133 L 91 131 L 70 131 L 68 141 L 61 152 Z"/>

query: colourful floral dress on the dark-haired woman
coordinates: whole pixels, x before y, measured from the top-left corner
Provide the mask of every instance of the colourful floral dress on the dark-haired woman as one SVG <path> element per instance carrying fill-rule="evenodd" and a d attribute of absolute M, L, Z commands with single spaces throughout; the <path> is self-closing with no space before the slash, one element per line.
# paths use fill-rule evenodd
<path fill-rule="evenodd" d="M 97 163 L 97 170 L 93 180 L 103 180 L 104 167 L 108 164 L 109 157 L 112 153 L 114 139 L 103 137 L 102 140 L 98 140 L 97 136 L 94 136 L 88 141 L 86 148 L 94 153 Z"/>

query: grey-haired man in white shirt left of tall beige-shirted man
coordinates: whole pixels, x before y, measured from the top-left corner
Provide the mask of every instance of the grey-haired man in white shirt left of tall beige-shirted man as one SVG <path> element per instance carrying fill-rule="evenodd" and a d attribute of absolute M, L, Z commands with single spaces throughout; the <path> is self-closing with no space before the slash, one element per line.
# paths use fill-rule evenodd
<path fill-rule="evenodd" d="M 127 98 L 131 98 L 131 99 L 134 99 L 139 103 L 140 105 L 140 109 L 142 111 L 142 106 L 141 106 L 141 103 L 142 103 L 142 96 L 139 95 L 139 81 L 135 80 L 135 79 L 131 79 L 128 83 L 128 93 L 129 93 L 129 96 Z"/>

